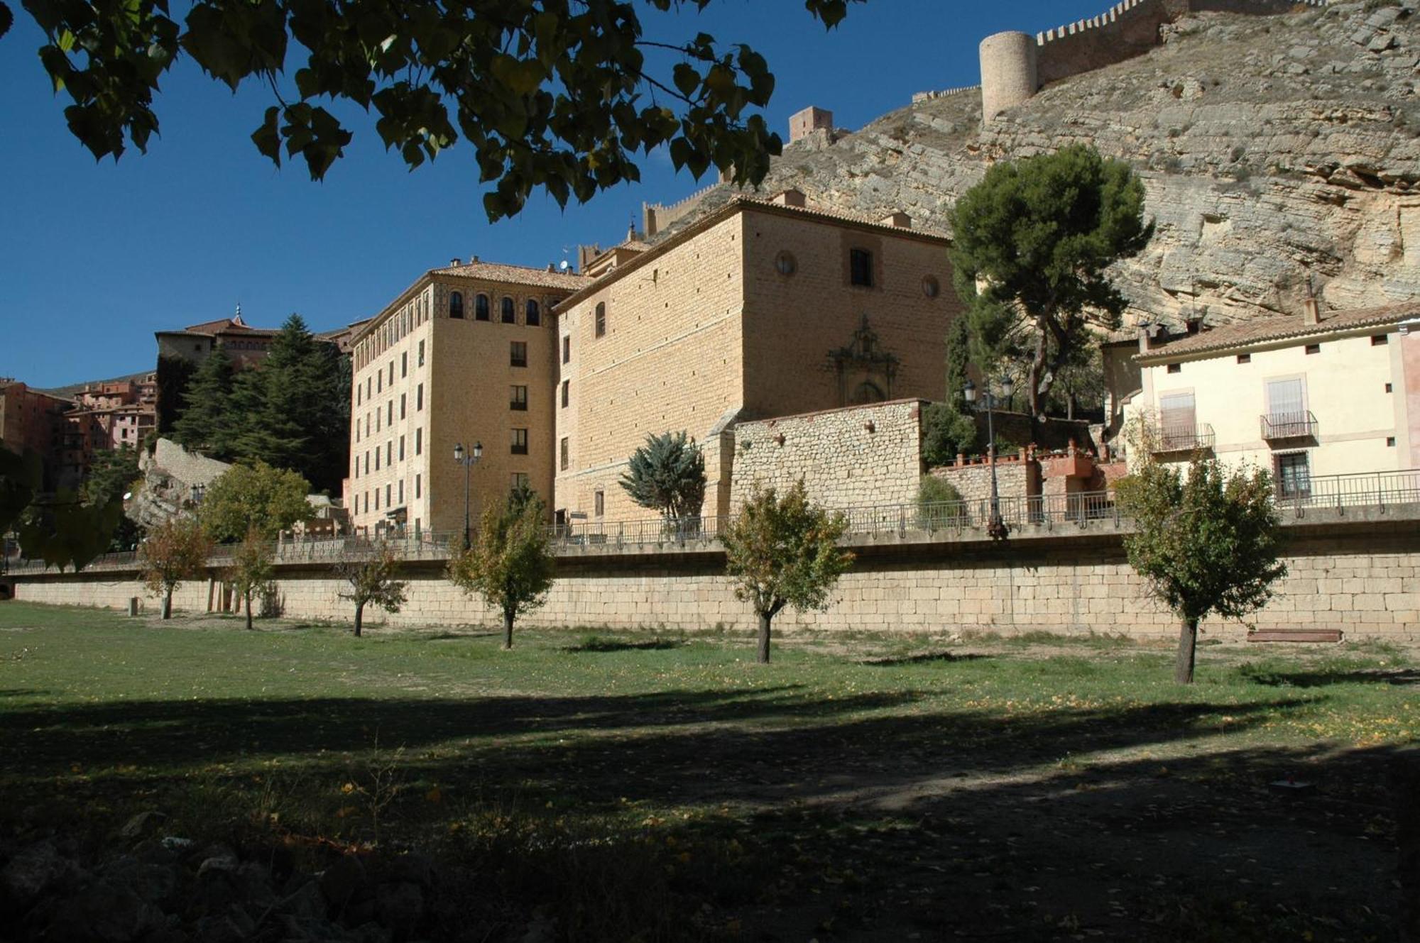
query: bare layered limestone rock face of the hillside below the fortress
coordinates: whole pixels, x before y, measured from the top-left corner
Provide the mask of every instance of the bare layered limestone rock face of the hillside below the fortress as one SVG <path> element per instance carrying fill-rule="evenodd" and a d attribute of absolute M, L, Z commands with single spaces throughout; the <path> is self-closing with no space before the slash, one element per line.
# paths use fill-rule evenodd
<path fill-rule="evenodd" d="M 1160 34 L 1146 55 L 1044 88 L 985 128 L 968 92 L 787 146 L 761 192 L 794 186 L 950 231 L 947 210 L 991 162 L 1086 142 L 1136 169 L 1157 220 L 1116 270 L 1126 321 L 1296 312 L 1308 277 L 1331 308 L 1420 297 L 1420 16 L 1362 3 L 1204 13 Z M 710 190 L 697 213 L 734 193 Z"/>

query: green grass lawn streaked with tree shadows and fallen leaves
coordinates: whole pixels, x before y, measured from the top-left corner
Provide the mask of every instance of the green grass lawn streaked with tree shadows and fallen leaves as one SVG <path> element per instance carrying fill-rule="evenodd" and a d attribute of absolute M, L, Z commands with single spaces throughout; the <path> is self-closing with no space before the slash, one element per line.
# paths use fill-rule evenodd
<path fill-rule="evenodd" d="M 1203 646 L 1180 689 L 1110 639 L 258 625 L 0 604 L 0 825 L 430 848 L 467 939 L 1394 933 L 1384 646 Z"/>

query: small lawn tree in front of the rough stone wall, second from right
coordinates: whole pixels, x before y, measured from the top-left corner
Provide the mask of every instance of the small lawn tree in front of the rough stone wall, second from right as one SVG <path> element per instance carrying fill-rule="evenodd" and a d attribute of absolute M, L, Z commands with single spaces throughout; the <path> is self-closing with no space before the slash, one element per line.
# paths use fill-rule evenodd
<path fill-rule="evenodd" d="M 760 663 L 770 660 L 770 623 L 780 609 L 826 609 L 828 594 L 853 562 L 838 540 L 848 530 L 842 514 L 808 500 L 799 480 L 782 497 L 758 481 L 720 540 L 734 596 L 760 616 Z"/>

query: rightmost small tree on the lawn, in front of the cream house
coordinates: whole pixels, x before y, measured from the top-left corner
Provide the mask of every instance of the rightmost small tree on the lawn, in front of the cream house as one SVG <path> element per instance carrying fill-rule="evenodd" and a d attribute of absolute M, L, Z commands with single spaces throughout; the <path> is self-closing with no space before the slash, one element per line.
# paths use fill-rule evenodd
<path fill-rule="evenodd" d="M 1191 685 L 1198 622 L 1262 608 L 1287 575 L 1271 476 L 1224 476 L 1217 459 L 1196 454 L 1187 479 L 1146 463 L 1119 483 L 1116 500 L 1137 527 L 1125 537 L 1129 565 L 1181 621 L 1173 679 Z"/>

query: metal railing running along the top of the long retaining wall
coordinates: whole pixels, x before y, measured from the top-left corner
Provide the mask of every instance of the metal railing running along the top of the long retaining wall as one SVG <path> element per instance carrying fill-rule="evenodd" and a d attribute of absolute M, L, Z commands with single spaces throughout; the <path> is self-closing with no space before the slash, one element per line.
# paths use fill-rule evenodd
<path fill-rule="evenodd" d="M 1389 507 L 1394 504 L 1420 504 L 1420 469 L 1399 471 L 1367 471 L 1358 474 L 1328 474 L 1304 479 L 1284 493 L 1277 486 L 1274 500 L 1279 510 L 1302 511 L 1305 508 L 1346 507 Z M 998 501 L 1001 520 L 1012 531 L 1027 527 L 1054 528 L 1075 525 L 1086 528 L 1095 523 L 1112 525 L 1127 524 L 1127 516 L 1115 506 L 1112 491 L 1079 491 L 1074 494 L 1042 494 L 1034 497 L 1003 497 Z M 907 533 L 961 534 L 968 530 L 985 531 L 991 520 L 988 498 L 941 501 L 933 504 L 870 504 L 838 508 L 848 520 L 848 538 L 869 538 L 873 535 L 903 535 Z M 734 523 L 734 517 L 692 517 L 680 520 L 639 521 L 574 521 L 547 528 L 555 550 L 572 548 L 649 548 L 706 544 L 719 537 Z M 477 540 L 477 534 L 473 535 Z M 389 543 L 395 552 L 408 561 L 442 561 L 463 544 L 463 531 L 410 530 L 386 533 L 382 537 L 301 537 L 285 538 L 275 547 L 275 562 L 338 562 L 371 552 L 378 540 Z M 213 569 L 230 565 L 234 547 L 214 550 L 209 558 Z M 138 561 L 136 551 L 104 554 L 94 560 L 85 571 L 132 569 Z M 10 574 L 43 572 L 44 561 L 4 561 Z"/>

